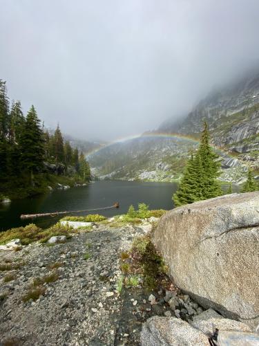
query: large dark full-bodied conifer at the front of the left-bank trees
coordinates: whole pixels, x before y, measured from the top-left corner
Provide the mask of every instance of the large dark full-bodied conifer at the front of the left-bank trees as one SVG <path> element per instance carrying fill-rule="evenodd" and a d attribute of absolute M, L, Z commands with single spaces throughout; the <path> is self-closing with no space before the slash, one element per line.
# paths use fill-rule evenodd
<path fill-rule="evenodd" d="M 28 111 L 20 141 L 23 169 L 30 172 L 33 184 L 33 174 L 41 170 L 44 161 L 44 134 L 33 105 Z"/>

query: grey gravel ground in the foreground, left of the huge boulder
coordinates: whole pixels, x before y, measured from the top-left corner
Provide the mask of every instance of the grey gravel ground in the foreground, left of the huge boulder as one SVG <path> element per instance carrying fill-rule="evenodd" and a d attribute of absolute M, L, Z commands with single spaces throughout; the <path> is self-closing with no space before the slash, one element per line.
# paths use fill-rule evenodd
<path fill-rule="evenodd" d="M 143 233 L 135 226 L 99 226 L 64 244 L 0 251 L 0 264 L 21 265 L 0 271 L 0 345 L 140 345 L 147 318 L 176 316 L 165 291 L 154 293 L 157 304 L 151 304 L 141 285 L 116 290 L 120 253 Z M 43 284 L 44 295 L 23 302 L 35 277 L 53 273 L 57 280 Z M 5 282 L 10 274 L 15 279 Z"/>

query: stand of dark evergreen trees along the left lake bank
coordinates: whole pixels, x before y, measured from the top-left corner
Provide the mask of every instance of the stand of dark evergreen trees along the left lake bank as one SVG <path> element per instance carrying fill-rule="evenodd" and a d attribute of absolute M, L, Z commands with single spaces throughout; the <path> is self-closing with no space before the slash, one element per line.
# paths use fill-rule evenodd
<path fill-rule="evenodd" d="M 64 165 L 64 173 L 90 180 L 84 154 L 64 142 L 59 126 L 54 134 L 44 130 L 32 105 L 23 115 L 20 101 L 8 98 L 6 82 L 0 80 L 0 183 L 35 185 L 46 173 L 46 163 Z M 70 168 L 70 170 L 68 170 Z M 37 181 L 38 180 L 38 181 Z M 13 184 L 15 185 L 15 184 Z"/>

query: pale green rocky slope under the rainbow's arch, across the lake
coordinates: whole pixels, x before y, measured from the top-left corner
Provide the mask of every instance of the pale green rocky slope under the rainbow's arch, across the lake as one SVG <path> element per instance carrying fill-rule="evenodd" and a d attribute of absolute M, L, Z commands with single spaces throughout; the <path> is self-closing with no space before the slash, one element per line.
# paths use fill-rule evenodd
<path fill-rule="evenodd" d="M 142 136 L 104 147 L 88 162 L 100 179 L 171 181 L 178 179 L 195 145 L 181 138 Z"/>

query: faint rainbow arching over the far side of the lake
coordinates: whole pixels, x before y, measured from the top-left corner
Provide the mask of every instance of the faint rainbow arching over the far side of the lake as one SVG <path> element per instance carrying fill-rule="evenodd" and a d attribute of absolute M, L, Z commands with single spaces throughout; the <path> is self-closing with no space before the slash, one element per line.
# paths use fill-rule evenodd
<path fill-rule="evenodd" d="M 113 142 L 107 143 L 106 145 L 102 145 L 101 147 L 93 149 L 92 151 L 88 152 L 86 154 L 86 158 L 88 158 L 89 156 L 91 156 L 93 154 L 96 154 L 97 152 L 100 152 L 103 149 L 106 149 L 107 147 L 111 147 L 111 145 L 115 145 L 116 143 L 124 143 L 128 140 L 133 140 L 133 139 L 137 139 L 137 138 L 171 138 L 171 139 L 175 139 L 175 140 L 187 140 L 187 141 L 193 143 L 193 145 L 198 145 L 198 143 L 200 143 L 200 140 L 198 140 L 197 138 L 194 138 L 193 136 L 189 136 L 189 135 L 176 134 L 176 133 L 175 134 L 168 134 L 165 132 L 164 133 L 163 132 L 146 132 L 144 134 L 136 134 L 133 136 L 117 138 Z M 217 147 L 216 145 L 213 145 L 213 144 L 211 144 L 211 147 L 213 147 L 217 152 L 231 156 L 231 154 L 224 151 L 224 149 L 222 149 L 221 147 Z"/>

